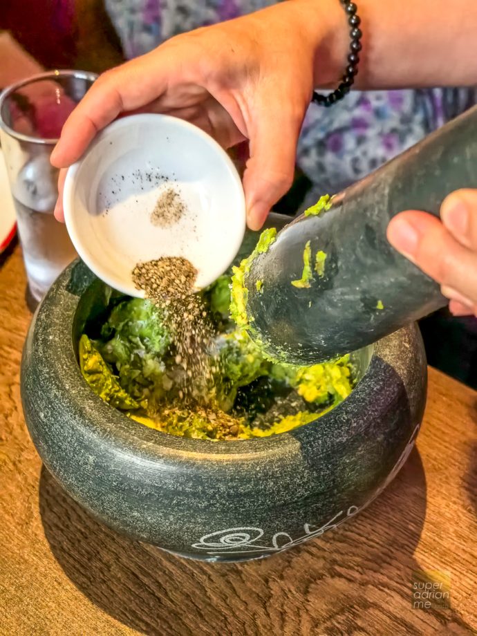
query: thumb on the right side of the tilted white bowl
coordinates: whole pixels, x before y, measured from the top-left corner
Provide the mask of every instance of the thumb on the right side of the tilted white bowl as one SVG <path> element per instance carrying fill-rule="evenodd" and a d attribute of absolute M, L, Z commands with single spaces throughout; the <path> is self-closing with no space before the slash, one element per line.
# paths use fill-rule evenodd
<path fill-rule="evenodd" d="M 243 175 L 250 230 L 260 230 L 270 208 L 293 183 L 298 135 L 303 115 L 289 109 L 270 112 L 254 124 L 250 133 L 250 158 Z"/>

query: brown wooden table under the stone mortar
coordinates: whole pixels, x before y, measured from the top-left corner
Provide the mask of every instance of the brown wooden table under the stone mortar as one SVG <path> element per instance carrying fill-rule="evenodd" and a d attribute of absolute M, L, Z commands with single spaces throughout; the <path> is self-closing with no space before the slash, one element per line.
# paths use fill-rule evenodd
<path fill-rule="evenodd" d="M 475 633 L 477 393 L 430 371 L 417 450 L 348 525 L 244 565 L 181 560 L 98 525 L 42 469 L 21 413 L 18 248 L 0 290 L 2 636 Z M 451 608 L 412 607 L 416 570 L 450 572 Z"/>

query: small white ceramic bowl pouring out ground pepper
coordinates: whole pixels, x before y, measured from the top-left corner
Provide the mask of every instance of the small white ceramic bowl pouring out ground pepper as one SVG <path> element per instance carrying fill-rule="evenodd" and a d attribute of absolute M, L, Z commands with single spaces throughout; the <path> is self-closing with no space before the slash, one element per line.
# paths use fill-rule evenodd
<path fill-rule="evenodd" d="M 174 188 L 186 212 L 151 223 L 161 192 Z M 106 127 L 66 175 L 64 214 L 73 245 L 97 277 L 143 297 L 131 273 L 140 261 L 184 256 L 204 288 L 230 266 L 245 232 L 245 198 L 227 153 L 206 133 L 168 115 L 131 115 Z"/>

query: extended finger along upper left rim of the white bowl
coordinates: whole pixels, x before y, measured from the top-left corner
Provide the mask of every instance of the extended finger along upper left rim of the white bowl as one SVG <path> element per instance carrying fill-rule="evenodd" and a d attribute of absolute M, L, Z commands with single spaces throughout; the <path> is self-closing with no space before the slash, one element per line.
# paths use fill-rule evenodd
<path fill-rule="evenodd" d="M 98 131 L 120 113 L 140 109 L 155 100 L 170 78 L 178 79 L 176 62 L 168 54 L 159 55 L 159 51 L 106 71 L 66 120 L 51 154 L 53 165 L 65 168 L 73 164 Z"/>

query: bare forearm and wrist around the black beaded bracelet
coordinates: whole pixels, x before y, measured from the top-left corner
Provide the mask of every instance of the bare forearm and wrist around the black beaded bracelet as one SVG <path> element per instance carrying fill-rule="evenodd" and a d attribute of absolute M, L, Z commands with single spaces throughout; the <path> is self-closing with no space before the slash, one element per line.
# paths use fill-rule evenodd
<path fill-rule="evenodd" d="M 339 0 L 292 0 L 315 37 L 315 85 L 339 82 L 349 30 Z M 362 19 L 361 89 L 477 84 L 475 0 L 355 0 Z"/>

